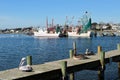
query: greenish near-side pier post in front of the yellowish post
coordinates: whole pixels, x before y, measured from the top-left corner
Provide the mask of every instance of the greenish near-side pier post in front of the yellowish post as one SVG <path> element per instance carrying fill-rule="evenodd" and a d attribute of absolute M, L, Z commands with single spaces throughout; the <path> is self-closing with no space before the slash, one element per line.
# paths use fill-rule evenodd
<path fill-rule="evenodd" d="M 100 68 L 98 70 L 98 80 L 104 80 L 104 71 L 105 71 L 105 52 L 100 52 Z"/>

